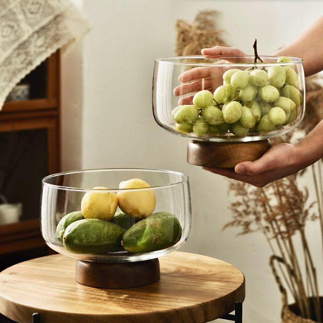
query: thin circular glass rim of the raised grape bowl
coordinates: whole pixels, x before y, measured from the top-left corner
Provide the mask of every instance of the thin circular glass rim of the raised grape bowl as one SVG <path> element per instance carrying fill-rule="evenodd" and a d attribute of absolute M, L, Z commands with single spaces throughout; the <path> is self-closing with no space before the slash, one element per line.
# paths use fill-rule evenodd
<path fill-rule="evenodd" d="M 275 66 L 275 65 L 283 65 L 283 66 L 289 66 L 289 65 L 296 65 L 303 63 L 303 59 L 299 57 L 293 57 L 293 56 L 266 56 L 266 55 L 260 55 L 260 58 L 264 59 L 278 59 L 280 57 L 289 57 L 292 59 L 292 61 L 289 62 L 270 62 L 270 63 L 237 63 L 237 62 L 230 62 L 230 63 L 210 63 L 210 62 L 201 62 L 201 63 L 190 63 L 190 62 L 180 62 L 176 61 L 179 59 L 209 59 L 209 58 L 251 58 L 253 59 L 253 55 L 214 55 L 214 56 L 205 56 L 205 55 L 192 55 L 192 56 L 173 56 L 173 57 L 159 57 L 155 59 L 155 62 L 162 62 L 162 63 L 169 63 L 173 65 L 186 65 L 186 66 L 245 66 L 245 67 L 252 67 L 252 66 Z"/>

